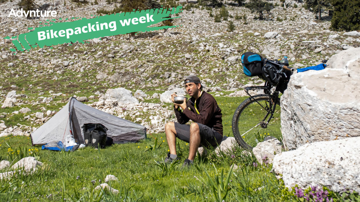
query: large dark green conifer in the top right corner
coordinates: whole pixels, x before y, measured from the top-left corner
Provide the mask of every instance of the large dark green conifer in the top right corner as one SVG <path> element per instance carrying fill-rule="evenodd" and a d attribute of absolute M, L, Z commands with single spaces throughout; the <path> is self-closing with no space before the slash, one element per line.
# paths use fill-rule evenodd
<path fill-rule="evenodd" d="M 333 18 L 331 28 L 334 30 L 360 30 L 360 0 L 333 0 Z"/>

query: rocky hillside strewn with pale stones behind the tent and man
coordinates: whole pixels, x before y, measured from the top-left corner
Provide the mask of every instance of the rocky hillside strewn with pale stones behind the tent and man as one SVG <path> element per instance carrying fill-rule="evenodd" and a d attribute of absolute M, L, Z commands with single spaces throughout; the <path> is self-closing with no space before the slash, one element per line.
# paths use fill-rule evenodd
<path fill-rule="evenodd" d="M 314 13 L 302 8 L 301 3 L 287 1 L 291 5 L 287 10 L 278 6 L 270 15 L 265 14 L 264 21 L 254 20 L 256 14 L 247 8 L 226 4 L 233 17 L 247 16 L 247 24 L 243 19 L 228 18 L 236 26 L 234 32 L 227 31 L 228 21 L 215 23 L 210 11 L 199 6 L 184 10 L 181 18 L 173 21 L 183 26 L 166 33 L 138 33 L 134 40 L 127 35 L 95 38 L 87 40 L 90 43 L 33 48 L 14 55 L 11 40 L 4 37 L 26 33 L 28 27 L 52 19 L 8 17 L 10 9 L 18 8 L 18 2 L 0 5 L 0 103 L 10 91 L 16 91 L 8 96 L 11 105 L 0 109 L 1 135 L 31 133 L 74 95 L 85 97 L 83 101 L 93 107 L 141 123 L 150 132 L 161 132 L 164 122 L 174 116 L 170 105 L 159 100 L 159 94 L 182 88 L 186 75 L 199 75 L 207 91 L 214 94 L 236 96 L 245 85 L 262 82 L 243 74 L 238 60 L 243 52 L 271 59 L 288 56 L 291 66 L 304 67 L 319 64 L 340 50 L 360 46 L 360 33 L 330 31 L 329 20 L 315 21 Z M 37 5 L 48 3 L 47 9 L 57 10 L 57 19 L 62 18 L 57 22 L 72 17 L 93 18 L 97 9 L 115 8 L 104 0 L 98 2 L 78 7 L 71 1 L 64 5 L 63 0 L 35 0 Z M 132 93 L 141 89 L 147 95 L 138 97 L 140 103 L 130 105 L 107 101 L 106 90 L 119 87 Z"/>

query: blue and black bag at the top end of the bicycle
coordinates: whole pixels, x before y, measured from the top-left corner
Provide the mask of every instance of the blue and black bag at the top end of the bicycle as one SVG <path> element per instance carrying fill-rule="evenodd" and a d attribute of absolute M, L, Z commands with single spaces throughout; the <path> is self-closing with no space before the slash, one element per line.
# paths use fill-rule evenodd
<path fill-rule="evenodd" d="M 262 57 L 253 52 L 246 52 L 241 55 L 241 64 L 244 74 L 247 76 L 261 76 L 263 61 Z"/>

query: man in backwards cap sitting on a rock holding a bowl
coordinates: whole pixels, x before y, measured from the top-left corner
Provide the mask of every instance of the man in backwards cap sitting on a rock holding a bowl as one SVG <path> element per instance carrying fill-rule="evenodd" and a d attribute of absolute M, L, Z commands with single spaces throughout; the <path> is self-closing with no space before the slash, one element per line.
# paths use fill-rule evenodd
<path fill-rule="evenodd" d="M 165 162 L 177 160 L 176 137 L 189 142 L 189 157 L 184 166 L 193 164 L 199 146 L 216 146 L 222 140 L 221 109 L 212 95 L 202 90 L 200 79 L 190 75 L 185 79 L 185 88 L 191 98 L 183 104 L 174 103 L 177 122 L 168 122 L 165 125 L 167 144 L 170 152 Z M 176 94 L 171 95 L 174 102 Z M 189 120 L 194 123 L 185 125 Z"/>

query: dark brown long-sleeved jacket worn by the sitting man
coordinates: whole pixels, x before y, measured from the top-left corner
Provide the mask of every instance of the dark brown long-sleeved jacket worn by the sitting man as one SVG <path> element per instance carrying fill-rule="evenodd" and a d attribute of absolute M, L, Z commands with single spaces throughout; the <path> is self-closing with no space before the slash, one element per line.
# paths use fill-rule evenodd
<path fill-rule="evenodd" d="M 195 98 L 191 97 L 186 103 L 187 108 L 185 108 L 183 112 L 181 112 L 181 107 L 175 109 L 174 106 L 177 122 L 185 124 L 191 119 L 196 123 L 201 123 L 213 128 L 214 131 L 222 135 L 222 114 L 215 98 L 203 91 L 201 96 L 196 100 L 196 109 L 199 113 L 197 113 L 194 104 Z"/>

